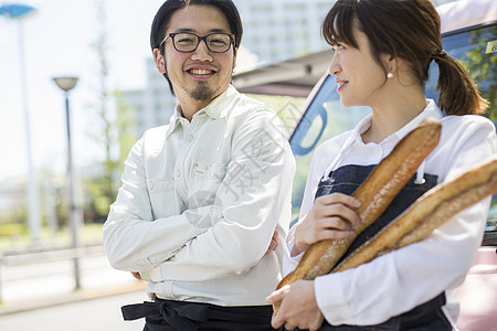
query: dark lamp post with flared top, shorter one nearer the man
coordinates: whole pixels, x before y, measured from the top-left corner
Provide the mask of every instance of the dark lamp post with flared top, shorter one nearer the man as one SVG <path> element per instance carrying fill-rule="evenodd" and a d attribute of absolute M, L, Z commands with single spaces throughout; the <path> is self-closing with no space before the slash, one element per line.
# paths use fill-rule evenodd
<path fill-rule="evenodd" d="M 70 90 L 76 86 L 77 77 L 54 77 L 53 81 L 55 84 L 64 90 L 65 96 L 65 120 L 67 127 L 67 178 L 68 178 L 68 197 L 70 197 L 70 217 L 68 223 L 71 226 L 71 235 L 73 238 L 73 248 L 75 250 L 74 255 L 74 279 L 75 279 L 75 289 L 81 288 L 81 277 L 80 277 L 80 259 L 78 252 L 80 248 L 80 217 L 76 209 L 76 204 L 74 202 L 74 172 L 73 172 L 73 152 L 71 147 L 71 117 L 70 117 Z"/>

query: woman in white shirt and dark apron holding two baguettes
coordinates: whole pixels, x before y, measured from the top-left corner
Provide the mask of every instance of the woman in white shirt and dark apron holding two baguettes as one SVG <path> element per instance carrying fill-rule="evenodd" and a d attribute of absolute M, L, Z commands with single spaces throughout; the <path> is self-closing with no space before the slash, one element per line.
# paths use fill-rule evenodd
<path fill-rule="evenodd" d="M 352 234 L 359 202 L 349 194 L 423 118 L 442 121 L 437 148 L 346 255 L 417 196 L 497 151 L 493 122 L 475 116 L 488 103 L 464 67 L 443 51 L 440 17 L 429 0 L 339 0 L 326 17 L 322 33 L 335 50 L 329 71 L 342 105 L 370 106 L 372 114 L 355 130 L 317 149 L 299 222 L 287 238 L 285 273 L 296 267 L 309 245 Z M 438 106 L 423 89 L 432 61 L 440 68 Z M 273 292 L 267 302 L 282 301 L 273 327 L 452 330 L 457 307 L 448 293 L 463 282 L 476 255 L 489 201 L 457 214 L 423 242 Z"/>

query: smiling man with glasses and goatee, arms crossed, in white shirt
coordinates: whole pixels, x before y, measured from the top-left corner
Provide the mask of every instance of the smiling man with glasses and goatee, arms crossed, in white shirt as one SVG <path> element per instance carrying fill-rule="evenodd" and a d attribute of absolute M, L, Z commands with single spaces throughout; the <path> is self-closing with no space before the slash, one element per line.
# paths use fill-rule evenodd
<path fill-rule="evenodd" d="M 144 330 L 272 330 L 295 160 L 277 116 L 230 85 L 242 38 L 231 0 L 167 0 L 151 47 L 179 105 L 125 163 L 104 225 L 113 267 L 148 281 Z"/>

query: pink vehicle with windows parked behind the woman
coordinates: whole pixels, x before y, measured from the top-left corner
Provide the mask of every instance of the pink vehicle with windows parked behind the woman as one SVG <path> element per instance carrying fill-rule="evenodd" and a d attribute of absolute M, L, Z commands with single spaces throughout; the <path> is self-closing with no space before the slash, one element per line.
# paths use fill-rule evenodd
<path fill-rule="evenodd" d="M 497 114 L 497 1 L 454 1 L 437 8 L 442 19 L 444 50 L 458 58 L 490 100 L 489 117 Z M 413 31 L 413 33 L 415 33 Z M 331 57 L 330 57 L 331 60 Z M 437 99 L 437 66 L 432 63 L 426 96 Z M 297 161 L 293 215 L 296 222 L 307 170 L 314 150 L 322 141 L 352 129 L 371 110 L 340 104 L 335 77 L 326 73 L 316 84 L 290 136 Z M 497 195 L 494 196 L 486 232 L 475 265 L 455 291 L 461 301 L 458 327 L 462 331 L 497 330 Z"/>

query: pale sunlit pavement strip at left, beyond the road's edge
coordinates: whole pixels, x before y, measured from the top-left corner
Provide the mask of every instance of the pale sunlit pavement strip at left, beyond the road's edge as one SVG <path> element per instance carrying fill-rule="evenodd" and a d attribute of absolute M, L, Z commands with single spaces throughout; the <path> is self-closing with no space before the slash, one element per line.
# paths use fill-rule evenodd
<path fill-rule="evenodd" d="M 105 254 L 81 258 L 81 289 L 74 290 L 72 260 L 32 260 L 3 265 L 0 273 L 0 317 L 84 300 L 145 292 L 146 281 L 113 269 Z"/>

